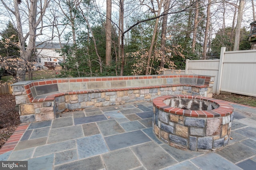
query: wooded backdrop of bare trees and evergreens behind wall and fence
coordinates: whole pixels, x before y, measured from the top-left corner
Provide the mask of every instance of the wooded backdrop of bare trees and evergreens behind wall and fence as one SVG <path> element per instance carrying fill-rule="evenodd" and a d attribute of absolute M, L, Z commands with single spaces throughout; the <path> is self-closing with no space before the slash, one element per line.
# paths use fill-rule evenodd
<path fill-rule="evenodd" d="M 255 48 L 254 0 L 0 2 L 0 66 L 16 81 L 32 79 L 36 41 L 60 43 L 61 77 L 161 74 L 186 59 L 218 59 L 221 47 Z"/>

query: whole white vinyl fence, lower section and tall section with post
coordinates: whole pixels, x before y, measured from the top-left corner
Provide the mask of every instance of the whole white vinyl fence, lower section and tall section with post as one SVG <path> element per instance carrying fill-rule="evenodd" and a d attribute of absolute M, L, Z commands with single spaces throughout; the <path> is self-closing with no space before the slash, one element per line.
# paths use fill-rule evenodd
<path fill-rule="evenodd" d="M 222 47 L 220 59 L 187 60 L 185 74 L 215 76 L 216 94 L 222 91 L 256 97 L 256 50 L 226 51 Z"/>

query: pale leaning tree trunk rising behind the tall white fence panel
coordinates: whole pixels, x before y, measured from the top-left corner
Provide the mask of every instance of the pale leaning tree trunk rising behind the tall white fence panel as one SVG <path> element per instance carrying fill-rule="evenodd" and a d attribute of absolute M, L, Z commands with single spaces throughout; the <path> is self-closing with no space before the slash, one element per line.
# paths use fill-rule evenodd
<path fill-rule="evenodd" d="M 240 30 L 243 18 L 243 11 L 244 11 L 245 1 L 240 0 L 239 7 L 238 7 L 238 16 L 236 22 L 236 31 L 235 31 L 235 40 L 234 40 L 234 48 L 233 51 L 239 50 L 239 41 L 240 41 Z"/>

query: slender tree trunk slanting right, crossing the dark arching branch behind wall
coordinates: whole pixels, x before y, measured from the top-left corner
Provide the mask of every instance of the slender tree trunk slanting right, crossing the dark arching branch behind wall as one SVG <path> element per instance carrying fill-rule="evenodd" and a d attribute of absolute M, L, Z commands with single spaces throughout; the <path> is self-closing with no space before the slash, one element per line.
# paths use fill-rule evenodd
<path fill-rule="evenodd" d="M 163 4 L 163 0 L 160 0 L 160 2 L 158 3 L 157 16 L 160 16 L 161 9 L 162 9 L 162 4 Z M 156 33 L 157 33 L 157 30 L 158 30 L 158 22 L 159 22 L 159 18 L 156 18 L 154 32 L 153 32 L 153 35 L 152 35 L 152 40 L 151 40 L 150 48 L 149 48 L 149 51 L 148 51 L 148 60 L 147 60 L 145 75 L 149 75 L 150 74 L 150 70 L 149 70 L 150 59 L 151 59 L 151 55 L 153 53 L 153 47 L 154 47 L 154 43 L 155 43 L 155 39 L 156 39 Z"/>

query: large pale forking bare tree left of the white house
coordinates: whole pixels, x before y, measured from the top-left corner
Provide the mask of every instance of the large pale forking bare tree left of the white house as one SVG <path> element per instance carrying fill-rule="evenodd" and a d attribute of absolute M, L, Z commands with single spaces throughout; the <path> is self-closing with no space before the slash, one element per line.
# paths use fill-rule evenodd
<path fill-rule="evenodd" d="M 20 50 L 21 59 L 20 63 L 18 63 L 17 77 L 18 81 L 24 81 L 26 69 L 23 66 L 28 65 L 32 61 L 36 36 L 42 34 L 42 20 L 50 0 L 25 0 L 24 4 L 21 0 L 14 0 L 13 2 L 1 0 L 1 2 L 8 11 L 8 14 L 10 14 L 8 17 L 12 18 L 14 16 L 12 21 L 16 21 L 14 25 L 16 25 L 18 32 L 19 43 L 17 47 Z M 40 24 L 40 31 L 36 33 Z M 28 26 L 28 29 L 25 29 L 26 26 Z M 27 47 L 25 47 L 26 41 Z"/>

